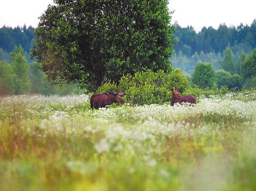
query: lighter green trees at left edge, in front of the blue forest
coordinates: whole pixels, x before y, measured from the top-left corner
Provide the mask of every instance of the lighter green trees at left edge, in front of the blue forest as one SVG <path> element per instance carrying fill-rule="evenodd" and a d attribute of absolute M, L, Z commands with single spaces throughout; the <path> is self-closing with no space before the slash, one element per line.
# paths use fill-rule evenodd
<path fill-rule="evenodd" d="M 39 69 L 40 63 L 27 63 L 24 49 L 15 47 L 9 53 L 10 63 L 0 61 L 0 96 L 18 94 L 81 94 L 78 84 L 51 85 Z"/>

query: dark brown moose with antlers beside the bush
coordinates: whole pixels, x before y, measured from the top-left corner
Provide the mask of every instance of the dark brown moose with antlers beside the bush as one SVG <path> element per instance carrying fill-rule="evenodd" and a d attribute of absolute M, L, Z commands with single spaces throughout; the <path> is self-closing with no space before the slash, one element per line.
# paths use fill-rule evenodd
<path fill-rule="evenodd" d="M 95 93 L 91 97 L 91 108 L 99 109 L 101 107 L 106 107 L 111 104 L 115 103 L 121 103 L 124 104 L 124 101 L 120 96 L 124 96 L 126 93 L 124 92 L 118 92 L 115 91 L 109 91 L 109 94 L 107 92 L 105 93 Z"/>

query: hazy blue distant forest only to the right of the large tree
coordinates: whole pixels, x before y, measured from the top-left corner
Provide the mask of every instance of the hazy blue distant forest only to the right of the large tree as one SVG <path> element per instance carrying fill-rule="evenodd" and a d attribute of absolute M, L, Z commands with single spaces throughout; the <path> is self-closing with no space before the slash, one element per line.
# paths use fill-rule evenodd
<path fill-rule="evenodd" d="M 251 54 L 256 47 L 256 20 L 249 25 L 237 27 L 219 25 L 215 30 L 204 27 L 199 33 L 193 28 L 182 28 L 177 23 L 174 38 L 177 41 L 174 49 L 176 54 L 170 58 L 174 68 L 181 68 L 191 74 L 198 62 L 211 62 L 215 70 L 220 70 L 220 60 L 229 47 L 233 61 L 239 61 L 242 54 Z"/>

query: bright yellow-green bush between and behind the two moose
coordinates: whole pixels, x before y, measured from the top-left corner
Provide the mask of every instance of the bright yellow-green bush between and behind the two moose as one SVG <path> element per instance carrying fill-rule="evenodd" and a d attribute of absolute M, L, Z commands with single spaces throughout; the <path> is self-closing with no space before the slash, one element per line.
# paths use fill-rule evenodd
<path fill-rule="evenodd" d="M 105 83 L 97 92 L 103 93 L 109 90 L 126 92 L 127 95 L 122 98 L 130 105 L 164 104 L 171 99 L 171 87 L 174 89 L 180 87 L 179 92 L 182 93 L 188 84 L 188 79 L 179 69 L 170 74 L 162 70 L 153 72 L 147 69 L 137 72 L 135 76 L 130 74 L 123 76 L 118 86 L 115 83 Z"/>

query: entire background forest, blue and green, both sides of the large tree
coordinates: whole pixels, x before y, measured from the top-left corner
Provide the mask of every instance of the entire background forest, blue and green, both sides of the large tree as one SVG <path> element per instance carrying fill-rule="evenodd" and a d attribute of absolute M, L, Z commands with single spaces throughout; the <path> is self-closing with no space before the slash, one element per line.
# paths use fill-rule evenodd
<path fill-rule="evenodd" d="M 211 88 L 216 85 L 219 89 L 228 86 L 237 88 L 236 91 L 256 88 L 256 19 L 250 26 L 222 24 L 217 30 L 204 27 L 199 33 L 191 26 L 175 25 L 172 36 L 176 39 L 175 54 L 170 61 L 173 68 L 184 72 L 191 86 Z M 51 86 L 39 69 L 40 63 L 29 58 L 34 41 L 31 26 L 0 28 L 0 96 L 82 93 L 79 84 L 64 84 L 61 89 L 58 85 Z"/>

